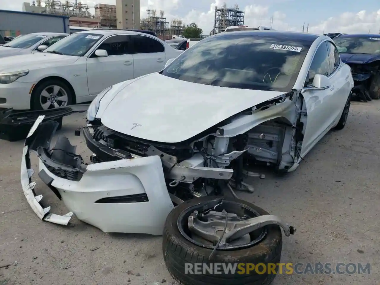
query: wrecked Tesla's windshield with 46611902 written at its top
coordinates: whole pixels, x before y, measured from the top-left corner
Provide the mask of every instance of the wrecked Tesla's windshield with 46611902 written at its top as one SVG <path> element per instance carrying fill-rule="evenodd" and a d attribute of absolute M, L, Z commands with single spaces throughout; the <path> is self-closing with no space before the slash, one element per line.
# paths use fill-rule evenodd
<path fill-rule="evenodd" d="M 200 41 L 161 74 L 199 84 L 289 92 L 312 43 L 227 34 Z"/>

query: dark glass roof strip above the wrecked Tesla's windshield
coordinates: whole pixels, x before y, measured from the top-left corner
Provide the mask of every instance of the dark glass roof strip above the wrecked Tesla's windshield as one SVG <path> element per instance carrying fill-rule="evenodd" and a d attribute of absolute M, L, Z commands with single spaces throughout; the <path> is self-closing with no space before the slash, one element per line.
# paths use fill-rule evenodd
<path fill-rule="evenodd" d="M 310 34 L 310 33 L 301 33 L 301 32 L 288 32 L 288 31 L 237 31 L 237 32 L 229 32 L 229 33 L 218 33 L 214 36 L 233 36 L 233 35 L 246 35 L 246 36 L 264 36 L 264 37 L 272 37 L 272 38 L 291 38 L 293 40 L 302 40 L 302 41 L 310 41 L 313 42 L 315 39 L 319 38 L 320 35 Z"/>

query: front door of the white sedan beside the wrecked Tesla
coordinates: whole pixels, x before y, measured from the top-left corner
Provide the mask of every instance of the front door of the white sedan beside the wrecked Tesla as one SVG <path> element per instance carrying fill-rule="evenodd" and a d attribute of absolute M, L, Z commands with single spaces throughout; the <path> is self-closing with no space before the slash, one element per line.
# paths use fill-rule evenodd
<path fill-rule="evenodd" d="M 98 57 L 97 49 L 107 51 L 107 57 Z M 109 86 L 133 79 L 133 55 L 129 35 L 106 38 L 87 58 L 87 82 L 90 95 L 97 95 Z"/>

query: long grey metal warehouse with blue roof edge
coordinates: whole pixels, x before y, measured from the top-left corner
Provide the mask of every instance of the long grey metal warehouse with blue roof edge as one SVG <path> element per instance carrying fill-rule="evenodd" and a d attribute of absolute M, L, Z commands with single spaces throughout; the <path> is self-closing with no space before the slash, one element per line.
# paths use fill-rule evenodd
<path fill-rule="evenodd" d="M 70 33 L 69 17 L 0 10 L 0 34 L 18 36 L 38 32 Z"/>

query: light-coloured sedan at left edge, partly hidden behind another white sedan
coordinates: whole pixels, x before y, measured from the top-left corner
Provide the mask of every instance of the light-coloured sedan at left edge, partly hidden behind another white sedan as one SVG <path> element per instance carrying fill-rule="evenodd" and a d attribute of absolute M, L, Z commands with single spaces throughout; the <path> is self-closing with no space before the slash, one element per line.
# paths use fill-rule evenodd
<path fill-rule="evenodd" d="M 40 52 L 68 35 L 65 33 L 31 33 L 23 35 L 0 46 L 0 57 Z"/>

